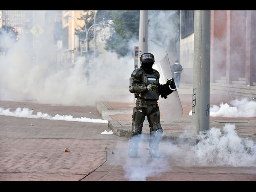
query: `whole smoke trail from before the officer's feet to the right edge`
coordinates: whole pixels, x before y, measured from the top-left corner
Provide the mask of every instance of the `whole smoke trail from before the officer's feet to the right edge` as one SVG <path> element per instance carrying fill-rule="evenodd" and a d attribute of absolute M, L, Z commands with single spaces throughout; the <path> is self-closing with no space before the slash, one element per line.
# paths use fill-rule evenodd
<path fill-rule="evenodd" d="M 118 162 L 123 161 L 125 177 L 130 181 L 146 181 L 179 166 L 256 167 L 256 144 L 248 138 L 240 138 L 234 124 L 200 133 L 199 140 L 196 145 L 162 141 L 159 149 L 163 158 L 150 158 L 139 150 L 138 158 L 131 159 L 126 154 Z"/>

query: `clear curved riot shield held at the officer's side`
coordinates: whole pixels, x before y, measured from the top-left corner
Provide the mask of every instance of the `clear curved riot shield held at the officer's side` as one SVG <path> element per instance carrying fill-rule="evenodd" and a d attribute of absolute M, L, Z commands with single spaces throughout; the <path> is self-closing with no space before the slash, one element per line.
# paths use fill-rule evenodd
<path fill-rule="evenodd" d="M 152 68 L 160 73 L 160 84 L 166 84 L 166 80 L 173 77 L 167 53 L 166 56 L 160 62 L 154 64 Z M 169 94 L 166 99 L 160 96 L 158 104 L 165 123 L 170 123 L 180 118 L 180 116 L 183 114 L 183 109 L 177 90 L 174 90 L 174 92 Z"/>

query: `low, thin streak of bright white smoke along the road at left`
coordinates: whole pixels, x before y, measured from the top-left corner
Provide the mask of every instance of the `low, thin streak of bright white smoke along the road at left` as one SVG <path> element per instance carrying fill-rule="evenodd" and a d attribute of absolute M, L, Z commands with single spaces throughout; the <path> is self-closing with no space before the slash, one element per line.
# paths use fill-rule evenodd
<path fill-rule="evenodd" d="M 48 119 L 48 120 L 62 120 L 62 121 L 78 121 L 78 122 L 92 122 L 92 123 L 108 123 L 107 120 L 102 119 L 90 119 L 86 117 L 74 118 L 71 115 L 59 115 L 50 116 L 47 113 L 37 112 L 33 114 L 34 110 L 29 110 L 28 108 L 21 109 L 17 108 L 15 111 L 10 111 L 10 109 L 4 109 L 0 107 L 0 115 L 22 117 L 22 118 L 33 118 L 33 119 Z"/>

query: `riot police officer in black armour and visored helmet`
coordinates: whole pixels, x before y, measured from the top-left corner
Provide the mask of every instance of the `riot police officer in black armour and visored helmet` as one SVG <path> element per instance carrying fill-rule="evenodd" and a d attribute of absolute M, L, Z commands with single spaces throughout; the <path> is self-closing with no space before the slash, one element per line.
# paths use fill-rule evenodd
<path fill-rule="evenodd" d="M 130 92 L 134 93 L 135 98 L 137 98 L 136 107 L 134 107 L 132 114 L 132 136 L 129 146 L 130 158 L 138 156 L 138 146 L 145 116 L 147 116 L 150 127 L 149 154 L 153 158 L 160 158 L 162 156 L 158 150 L 163 133 L 160 124 L 158 99 L 160 95 L 167 98 L 167 95 L 172 93 L 176 86 L 173 78 L 167 80 L 164 85 L 159 83 L 160 74 L 152 68 L 154 62 L 153 54 L 142 54 L 140 57 L 141 67 L 136 68 L 130 77 Z"/>

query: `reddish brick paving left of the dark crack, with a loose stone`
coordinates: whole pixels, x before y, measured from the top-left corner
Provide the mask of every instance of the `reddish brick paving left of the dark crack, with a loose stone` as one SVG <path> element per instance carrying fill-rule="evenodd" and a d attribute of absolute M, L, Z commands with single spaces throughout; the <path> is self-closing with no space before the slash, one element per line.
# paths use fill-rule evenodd
<path fill-rule="evenodd" d="M 101 118 L 95 107 L 5 102 L 51 115 Z M 127 139 L 104 135 L 107 124 L 0 116 L 0 181 L 79 181 L 106 162 L 106 147 Z M 69 148 L 70 152 L 64 152 Z"/>

